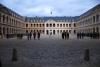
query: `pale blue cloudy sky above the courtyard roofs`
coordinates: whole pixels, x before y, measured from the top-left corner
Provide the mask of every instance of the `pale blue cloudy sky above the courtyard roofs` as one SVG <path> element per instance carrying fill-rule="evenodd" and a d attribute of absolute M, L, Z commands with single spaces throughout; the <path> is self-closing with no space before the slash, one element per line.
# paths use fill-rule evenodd
<path fill-rule="evenodd" d="M 23 16 L 78 16 L 99 4 L 100 0 L 0 0 L 0 2 Z"/>

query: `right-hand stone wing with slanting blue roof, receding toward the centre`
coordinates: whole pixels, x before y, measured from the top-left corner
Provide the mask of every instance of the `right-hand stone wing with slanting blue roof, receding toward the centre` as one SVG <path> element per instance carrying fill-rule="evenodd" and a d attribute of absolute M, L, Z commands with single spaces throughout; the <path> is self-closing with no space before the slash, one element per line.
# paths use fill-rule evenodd
<path fill-rule="evenodd" d="M 79 16 L 76 30 L 77 33 L 100 33 L 100 4 Z"/>

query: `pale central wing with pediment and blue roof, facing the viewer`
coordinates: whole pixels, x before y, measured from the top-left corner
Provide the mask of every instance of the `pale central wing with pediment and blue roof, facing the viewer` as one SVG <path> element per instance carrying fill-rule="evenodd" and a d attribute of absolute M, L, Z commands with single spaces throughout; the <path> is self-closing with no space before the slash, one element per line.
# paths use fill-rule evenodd
<path fill-rule="evenodd" d="M 63 31 L 75 33 L 74 27 L 78 17 L 26 17 L 26 32 L 40 31 L 45 35 L 58 35 Z"/>

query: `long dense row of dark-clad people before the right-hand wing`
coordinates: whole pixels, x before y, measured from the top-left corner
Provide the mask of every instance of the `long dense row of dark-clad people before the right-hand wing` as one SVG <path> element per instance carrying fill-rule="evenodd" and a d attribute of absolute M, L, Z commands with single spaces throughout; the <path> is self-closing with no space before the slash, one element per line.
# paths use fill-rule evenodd
<path fill-rule="evenodd" d="M 77 33 L 77 38 L 78 39 L 83 39 L 84 37 L 90 37 L 91 39 L 99 39 L 100 34 L 97 32 L 93 33 Z"/>

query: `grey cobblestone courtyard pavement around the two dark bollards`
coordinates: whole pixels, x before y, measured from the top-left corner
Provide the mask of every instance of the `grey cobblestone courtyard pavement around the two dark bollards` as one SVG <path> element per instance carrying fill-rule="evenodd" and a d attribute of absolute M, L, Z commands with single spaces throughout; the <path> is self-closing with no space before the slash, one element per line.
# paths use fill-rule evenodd
<path fill-rule="evenodd" d="M 12 62 L 12 49 L 17 49 L 18 61 Z M 90 61 L 84 61 L 84 50 L 90 50 Z M 0 59 L 3 67 L 100 67 L 100 40 L 0 39 Z"/>

